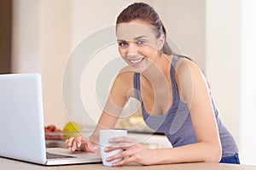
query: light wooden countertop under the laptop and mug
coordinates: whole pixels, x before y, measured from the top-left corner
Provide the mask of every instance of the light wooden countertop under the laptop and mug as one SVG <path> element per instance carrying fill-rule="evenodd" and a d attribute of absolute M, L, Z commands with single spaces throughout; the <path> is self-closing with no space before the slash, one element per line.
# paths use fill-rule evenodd
<path fill-rule="evenodd" d="M 140 166 L 140 165 L 127 165 L 123 167 L 105 167 L 102 163 L 96 164 L 81 164 L 81 165 L 66 165 L 66 166 L 52 166 L 46 167 L 42 165 L 27 163 L 24 161 L 15 161 L 0 157 L 0 168 L 1 170 L 55 170 L 55 169 L 93 169 L 93 170 L 107 170 L 107 169 L 132 169 L 132 170 L 154 170 L 154 169 L 172 169 L 172 170 L 194 170 L 194 169 L 207 169 L 207 170 L 256 170 L 255 166 L 247 165 L 234 165 L 234 164 L 223 164 L 223 163 L 180 163 L 180 164 L 166 164 L 166 165 L 155 165 L 155 166 Z"/>

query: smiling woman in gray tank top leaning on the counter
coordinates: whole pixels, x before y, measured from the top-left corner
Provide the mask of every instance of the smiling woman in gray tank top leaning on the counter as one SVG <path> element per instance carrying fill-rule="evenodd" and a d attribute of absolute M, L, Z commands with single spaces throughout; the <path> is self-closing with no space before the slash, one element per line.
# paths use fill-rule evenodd
<path fill-rule="evenodd" d="M 129 138 L 115 138 L 106 151 L 124 149 L 108 157 L 113 166 L 130 162 L 154 165 L 210 161 L 239 163 L 236 142 L 220 122 L 207 80 L 189 58 L 172 53 L 159 15 L 146 3 L 133 3 L 117 18 L 119 54 L 128 64 L 113 82 L 108 102 L 90 138 L 70 138 L 66 146 L 96 152 L 99 130 L 114 128 L 130 97 L 141 101 L 143 119 L 161 131 L 173 148 L 149 150 Z"/>

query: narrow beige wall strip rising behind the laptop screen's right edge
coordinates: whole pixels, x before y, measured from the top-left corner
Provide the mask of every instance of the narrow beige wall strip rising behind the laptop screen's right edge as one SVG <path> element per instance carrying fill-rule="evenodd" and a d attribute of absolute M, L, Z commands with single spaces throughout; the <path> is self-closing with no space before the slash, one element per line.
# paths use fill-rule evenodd
<path fill-rule="evenodd" d="M 44 119 L 60 128 L 68 122 L 61 86 L 71 51 L 72 5 L 70 0 L 42 0 L 39 5 Z"/>

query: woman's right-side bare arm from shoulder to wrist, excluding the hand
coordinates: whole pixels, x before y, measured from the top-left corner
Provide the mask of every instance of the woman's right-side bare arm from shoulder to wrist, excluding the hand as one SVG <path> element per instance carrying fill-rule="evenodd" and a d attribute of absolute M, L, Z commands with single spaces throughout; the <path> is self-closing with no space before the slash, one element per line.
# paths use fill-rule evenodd
<path fill-rule="evenodd" d="M 189 105 L 197 143 L 172 149 L 155 150 L 158 163 L 220 161 L 222 151 L 207 81 L 195 63 L 182 59 L 177 64 L 177 87 L 183 102 Z"/>

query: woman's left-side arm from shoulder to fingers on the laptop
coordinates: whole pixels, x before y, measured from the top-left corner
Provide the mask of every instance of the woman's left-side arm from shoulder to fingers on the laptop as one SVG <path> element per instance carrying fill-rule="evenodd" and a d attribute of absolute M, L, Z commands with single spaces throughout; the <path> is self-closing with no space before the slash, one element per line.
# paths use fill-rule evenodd
<path fill-rule="evenodd" d="M 98 144 L 99 141 L 99 130 L 106 128 L 113 128 L 118 122 L 119 115 L 125 106 L 127 101 L 127 94 L 132 88 L 132 82 L 130 77 L 132 73 L 120 73 L 114 80 L 113 86 L 111 88 L 110 94 L 108 96 L 108 101 L 102 111 L 102 116 L 100 117 L 96 129 L 91 134 L 89 138 L 79 135 L 77 138 L 70 138 L 66 141 L 66 147 L 74 150 L 84 150 L 95 152 L 94 146 Z"/>

